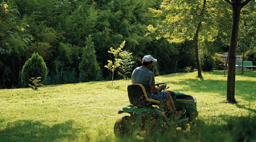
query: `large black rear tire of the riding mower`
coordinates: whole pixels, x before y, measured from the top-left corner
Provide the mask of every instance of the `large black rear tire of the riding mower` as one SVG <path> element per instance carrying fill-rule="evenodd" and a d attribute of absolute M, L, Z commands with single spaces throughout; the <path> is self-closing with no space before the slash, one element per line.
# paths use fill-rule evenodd
<path fill-rule="evenodd" d="M 116 138 L 132 137 L 134 126 L 130 116 L 122 116 L 116 120 L 114 133 Z"/>

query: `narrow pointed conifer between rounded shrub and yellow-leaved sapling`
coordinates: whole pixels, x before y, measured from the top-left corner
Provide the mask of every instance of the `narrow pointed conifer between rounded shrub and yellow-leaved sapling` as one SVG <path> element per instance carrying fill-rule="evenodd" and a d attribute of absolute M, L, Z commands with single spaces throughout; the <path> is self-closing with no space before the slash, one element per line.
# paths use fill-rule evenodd
<path fill-rule="evenodd" d="M 80 82 L 94 81 L 100 73 L 100 66 L 96 60 L 94 45 L 91 36 L 85 42 L 82 61 L 79 64 Z"/>

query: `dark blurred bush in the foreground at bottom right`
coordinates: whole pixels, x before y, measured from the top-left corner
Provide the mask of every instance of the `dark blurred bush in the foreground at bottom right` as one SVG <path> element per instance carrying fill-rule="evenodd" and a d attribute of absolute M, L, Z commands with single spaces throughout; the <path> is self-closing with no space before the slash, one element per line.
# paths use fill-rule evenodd
<path fill-rule="evenodd" d="M 198 125 L 200 125 L 198 127 Z M 228 120 L 227 125 L 205 125 L 196 123 L 197 128 L 192 131 L 180 131 L 173 128 L 162 133 L 155 129 L 147 138 L 121 138 L 117 142 L 255 142 L 255 117 L 236 117 Z M 191 126 L 190 126 L 191 127 Z"/>

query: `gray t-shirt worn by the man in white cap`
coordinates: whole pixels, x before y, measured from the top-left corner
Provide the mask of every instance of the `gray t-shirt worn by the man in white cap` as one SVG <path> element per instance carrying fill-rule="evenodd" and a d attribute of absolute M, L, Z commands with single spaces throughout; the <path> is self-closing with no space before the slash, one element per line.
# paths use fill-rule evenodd
<path fill-rule="evenodd" d="M 154 73 L 145 67 L 137 67 L 132 72 L 132 84 L 143 85 L 148 94 L 151 92 L 149 85 L 155 84 Z"/>

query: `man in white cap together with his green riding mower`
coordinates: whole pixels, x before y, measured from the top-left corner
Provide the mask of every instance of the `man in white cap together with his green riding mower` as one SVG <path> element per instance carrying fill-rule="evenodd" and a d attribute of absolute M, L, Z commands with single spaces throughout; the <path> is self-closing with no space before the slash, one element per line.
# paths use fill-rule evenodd
<path fill-rule="evenodd" d="M 132 72 L 132 84 L 127 87 L 131 105 L 118 112 L 129 113 L 130 116 L 116 120 L 114 133 L 117 138 L 151 135 L 154 129 L 167 131 L 173 126 L 186 130 L 188 123 L 190 130 L 196 127 L 196 98 L 184 93 L 162 91 L 169 87 L 166 88 L 165 83 L 155 84 L 154 74 L 149 70 L 156 61 L 150 55 L 144 56 L 142 66 Z"/>

